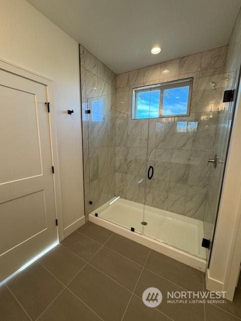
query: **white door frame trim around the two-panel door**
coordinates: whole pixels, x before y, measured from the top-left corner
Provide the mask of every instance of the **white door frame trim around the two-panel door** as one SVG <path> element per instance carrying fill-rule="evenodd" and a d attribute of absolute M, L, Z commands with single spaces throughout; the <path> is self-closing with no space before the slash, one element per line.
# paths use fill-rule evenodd
<path fill-rule="evenodd" d="M 18 66 L 1 57 L 0 57 L 0 70 L 10 72 L 12 74 L 40 83 L 47 87 L 47 99 L 48 99 L 48 102 L 50 102 L 49 129 L 50 129 L 52 164 L 54 166 L 53 183 L 54 183 L 54 202 L 55 202 L 55 212 L 56 212 L 55 214 L 56 214 L 56 219 L 58 220 L 57 231 L 58 231 L 58 240 L 60 242 L 63 240 L 64 234 L 63 234 L 63 217 L 62 217 L 62 205 L 61 205 L 60 171 L 59 171 L 53 80 L 46 76 L 37 74 L 31 70 L 28 70 L 24 67 Z"/>

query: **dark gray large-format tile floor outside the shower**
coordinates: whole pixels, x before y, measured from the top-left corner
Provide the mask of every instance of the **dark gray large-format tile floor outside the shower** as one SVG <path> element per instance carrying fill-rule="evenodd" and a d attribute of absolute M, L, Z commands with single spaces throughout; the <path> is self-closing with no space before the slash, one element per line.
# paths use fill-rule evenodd
<path fill-rule="evenodd" d="M 163 294 L 156 308 L 142 301 L 151 286 Z M 241 289 L 225 304 L 167 303 L 167 291 L 203 286 L 200 271 L 87 223 L 0 287 L 0 320 L 241 320 Z"/>

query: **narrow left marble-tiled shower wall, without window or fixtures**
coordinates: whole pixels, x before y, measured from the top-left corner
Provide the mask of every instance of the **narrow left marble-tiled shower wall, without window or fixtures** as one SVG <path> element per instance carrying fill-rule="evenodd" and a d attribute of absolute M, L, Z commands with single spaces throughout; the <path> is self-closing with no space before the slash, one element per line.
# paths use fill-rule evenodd
<path fill-rule="evenodd" d="M 114 196 L 115 74 L 80 45 L 85 211 Z M 90 114 L 85 110 L 89 109 Z M 89 204 L 92 201 L 92 205 Z"/>

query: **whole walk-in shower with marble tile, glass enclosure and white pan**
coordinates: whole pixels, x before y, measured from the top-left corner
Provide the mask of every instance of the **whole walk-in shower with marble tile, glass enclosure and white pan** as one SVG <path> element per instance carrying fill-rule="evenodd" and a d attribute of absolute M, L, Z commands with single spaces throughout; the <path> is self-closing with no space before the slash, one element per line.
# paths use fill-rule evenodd
<path fill-rule="evenodd" d="M 115 75 L 80 46 L 86 215 L 202 270 L 233 113 L 226 50 Z"/>

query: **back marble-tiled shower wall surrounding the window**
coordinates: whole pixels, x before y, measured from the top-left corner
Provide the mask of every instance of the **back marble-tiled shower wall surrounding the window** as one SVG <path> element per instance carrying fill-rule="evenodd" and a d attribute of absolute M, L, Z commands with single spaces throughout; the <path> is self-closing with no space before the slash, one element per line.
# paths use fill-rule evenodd
<path fill-rule="evenodd" d="M 115 196 L 204 219 L 226 46 L 116 76 Z M 134 87 L 193 77 L 190 116 L 131 119 Z M 230 80 L 231 81 L 231 80 Z M 223 114 L 223 111 L 222 111 Z M 154 177 L 146 180 L 147 167 Z"/>

